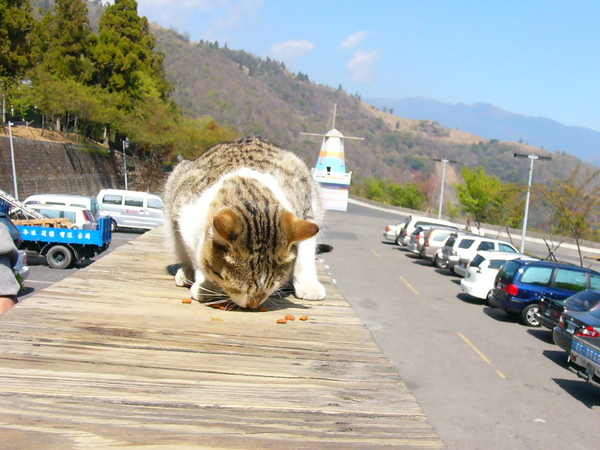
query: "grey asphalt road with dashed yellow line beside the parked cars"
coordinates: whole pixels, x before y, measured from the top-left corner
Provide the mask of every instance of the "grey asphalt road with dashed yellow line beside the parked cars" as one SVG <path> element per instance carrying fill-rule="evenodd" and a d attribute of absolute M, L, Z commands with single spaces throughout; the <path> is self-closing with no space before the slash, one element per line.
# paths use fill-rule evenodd
<path fill-rule="evenodd" d="M 550 331 L 485 307 L 458 277 L 384 242 L 399 219 L 328 211 L 323 240 L 334 249 L 321 258 L 448 447 L 594 446 L 600 390 L 566 369 Z"/>

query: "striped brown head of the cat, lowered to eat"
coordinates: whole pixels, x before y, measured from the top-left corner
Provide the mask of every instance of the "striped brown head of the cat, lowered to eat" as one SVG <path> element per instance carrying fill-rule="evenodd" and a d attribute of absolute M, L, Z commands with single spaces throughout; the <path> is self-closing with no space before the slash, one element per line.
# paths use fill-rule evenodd
<path fill-rule="evenodd" d="M 202 250 L 204 273 L 244 308 L 256 308 L 292 274 L 294 244 L 319 232 L 316 223 L 280 210 L 271 217 L 219 211 Z"/>

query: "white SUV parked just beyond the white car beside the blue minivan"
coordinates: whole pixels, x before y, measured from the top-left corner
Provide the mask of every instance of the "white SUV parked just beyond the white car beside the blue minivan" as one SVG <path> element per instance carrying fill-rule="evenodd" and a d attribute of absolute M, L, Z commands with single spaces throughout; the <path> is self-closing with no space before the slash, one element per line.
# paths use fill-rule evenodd
<path fill-rule="evenodd" d="M 460 259 L 471 261 L 478 251 L 494 250 L 500 252 L 518 253 L 510 243 L 500 239 L 487 238 L 475 234 L 452 234 L 446 240 L 441 252 L 441 259 L 446 267 L 456 273 L 455 266 Z M 462 272 L 465 273 L 464 271 Z"/>

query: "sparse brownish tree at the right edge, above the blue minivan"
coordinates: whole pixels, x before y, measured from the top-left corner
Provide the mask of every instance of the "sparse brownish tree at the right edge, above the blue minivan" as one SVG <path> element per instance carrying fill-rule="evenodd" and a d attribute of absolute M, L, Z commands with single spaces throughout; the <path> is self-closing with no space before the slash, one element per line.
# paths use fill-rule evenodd
<path fill-rule="evenodd" d="M 600 216 L 600 169 L 581 173 L 578 165 L 567 180 L 536 184 L 536 193 L 554 212 L 554 231 L 575 239 L 583 267 L 580 241 L 593 236 Z"/>

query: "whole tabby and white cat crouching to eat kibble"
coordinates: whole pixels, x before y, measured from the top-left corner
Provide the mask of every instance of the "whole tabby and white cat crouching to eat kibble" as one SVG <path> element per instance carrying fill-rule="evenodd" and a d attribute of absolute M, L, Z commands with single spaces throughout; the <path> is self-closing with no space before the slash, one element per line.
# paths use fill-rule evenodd
<path fill-rule="evenodd" d="M 298 298 L 320 300 L 315 266 L 320 189 L 293 153 L 261 138 L 218 144 L 180 163 L 165 186 L 178 286 L 207 301 L 223 292 L 256 308 L 293 275 Z"/>

